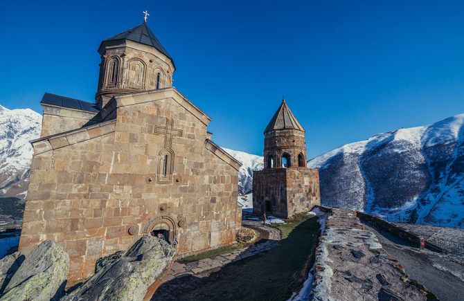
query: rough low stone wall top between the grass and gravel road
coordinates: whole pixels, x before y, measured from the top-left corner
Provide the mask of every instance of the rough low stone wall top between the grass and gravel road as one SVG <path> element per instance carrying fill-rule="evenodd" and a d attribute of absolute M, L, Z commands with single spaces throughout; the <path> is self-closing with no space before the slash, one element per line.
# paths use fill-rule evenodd
<path fill-rule="evenodd" d="M 365 230 L 356 213 L 332 209 L 316 250 L 312 300 L 434 300 Z"/>

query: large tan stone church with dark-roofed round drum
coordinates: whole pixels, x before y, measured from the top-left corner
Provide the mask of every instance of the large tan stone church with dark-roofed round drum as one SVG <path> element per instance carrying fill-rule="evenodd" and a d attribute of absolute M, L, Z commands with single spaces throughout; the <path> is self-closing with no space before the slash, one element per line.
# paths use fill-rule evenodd
<path fill-rule="evenodd" d="M 146 23 L 105 39 L 98 53 L 96 102 L 42 98 L 19 250 L 59 242 L 73 283 L 144 234 L 163 234 L 179 255 L 231 244 L 240 163 L 172 86 L 172 57 Z"/>

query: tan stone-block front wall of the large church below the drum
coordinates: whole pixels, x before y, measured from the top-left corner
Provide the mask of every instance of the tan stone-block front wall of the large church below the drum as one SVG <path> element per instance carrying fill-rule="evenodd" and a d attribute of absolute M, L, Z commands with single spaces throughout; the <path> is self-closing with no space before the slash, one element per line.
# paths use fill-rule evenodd
<path fill-rule="evenodd" d="M 206 124 L 172 98 L 130 102 L 118 102 L 116 120 L 104 129 L 34 145 L 20 249 L 27 253 L 46 239 L 62 244 L 70 283 L 153 229 L 170 230 L 182 255 L 230 244 L 240 228 L 240 164 L 206 140 Z M 158 133 L 167 120 L 179 130 L 172 140 Z M 166 148 L 174 154 L 172 174 L 160 182 Z"/>

